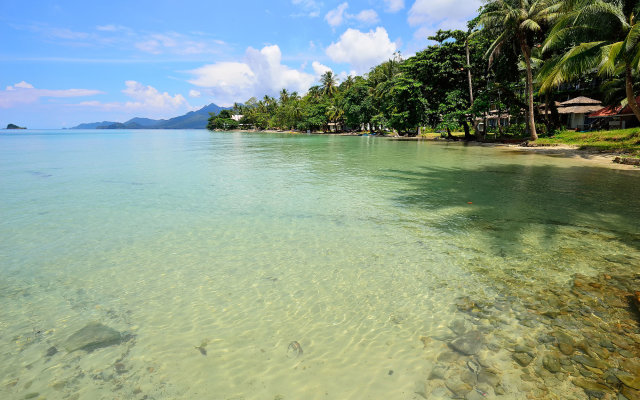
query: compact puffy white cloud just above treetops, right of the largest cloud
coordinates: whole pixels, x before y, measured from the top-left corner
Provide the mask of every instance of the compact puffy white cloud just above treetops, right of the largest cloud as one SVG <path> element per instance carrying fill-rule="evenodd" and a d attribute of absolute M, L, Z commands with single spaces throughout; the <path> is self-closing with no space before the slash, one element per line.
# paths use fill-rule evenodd
<path fill-rule="evenodd" d="M 326 53 L 333 61 L 349 63 L 358 73 L 363 73 L 389 59 L 396 48 L 382 27 L 369 32 L 349 28 L 338 42 L 327 47 Z"/>

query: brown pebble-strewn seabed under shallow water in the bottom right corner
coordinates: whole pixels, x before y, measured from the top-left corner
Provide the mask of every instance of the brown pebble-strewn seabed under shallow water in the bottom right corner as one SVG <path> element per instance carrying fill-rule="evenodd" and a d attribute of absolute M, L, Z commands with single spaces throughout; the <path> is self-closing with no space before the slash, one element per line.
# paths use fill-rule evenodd
<path fill-rule="evenodd" d="M 640 274 L 576 275 L 567 287 L 457 300 L 421 337 L 426 399 L 640 400 Z"/>

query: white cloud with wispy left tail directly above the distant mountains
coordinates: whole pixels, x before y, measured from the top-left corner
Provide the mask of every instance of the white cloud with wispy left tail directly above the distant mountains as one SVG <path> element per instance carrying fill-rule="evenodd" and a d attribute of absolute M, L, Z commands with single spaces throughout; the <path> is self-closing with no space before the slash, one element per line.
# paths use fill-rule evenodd
<path fill-rule="evenodd" d="M 140 82 L 126 81 L 122 93 L 130 97 L 131 101 L 102 103 L 99 101 L 84 101 L 77 106 L 97 108 L 103 111 L 120 111 L 127 114 L 144 113 L 151 118 L 175 116 L 178 111 L 190 111 L 193 107 L 181 94 L 170 95 L 160 92 L 153 86 L 145 86 Z"/>

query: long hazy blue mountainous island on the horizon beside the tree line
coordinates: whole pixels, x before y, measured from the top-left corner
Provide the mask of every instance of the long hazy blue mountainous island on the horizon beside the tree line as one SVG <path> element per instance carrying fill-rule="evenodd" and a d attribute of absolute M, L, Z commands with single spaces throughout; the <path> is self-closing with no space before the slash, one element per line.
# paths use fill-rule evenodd
<path fill-rule="evenodd" d="M 209 113 L 218 114 L 228 108 L 214 103 L 171 119 L 131 118 L 126 122 L 102 121 L 84 123 L 71 129 L 206 129 Z"/>

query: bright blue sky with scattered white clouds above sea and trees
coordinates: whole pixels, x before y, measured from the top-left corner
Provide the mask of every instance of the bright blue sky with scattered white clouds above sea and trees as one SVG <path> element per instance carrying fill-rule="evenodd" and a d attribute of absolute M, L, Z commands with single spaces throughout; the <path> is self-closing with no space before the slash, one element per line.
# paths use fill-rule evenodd
<path fill-rule="evenodd" d="M 332 70 L 362 75 L 466 29 L 481 0 L 0 2 L 0 128 L 171 118 Z"/>

